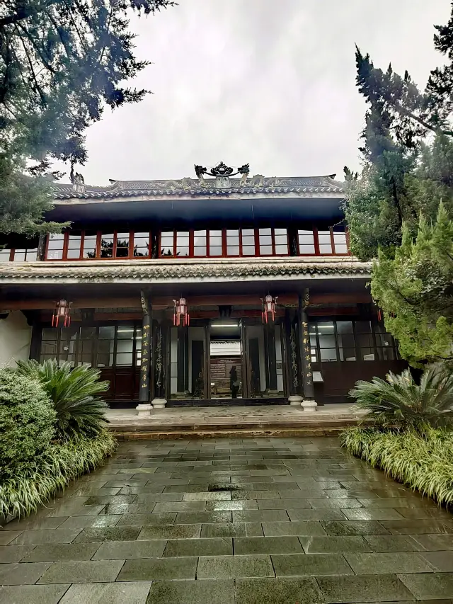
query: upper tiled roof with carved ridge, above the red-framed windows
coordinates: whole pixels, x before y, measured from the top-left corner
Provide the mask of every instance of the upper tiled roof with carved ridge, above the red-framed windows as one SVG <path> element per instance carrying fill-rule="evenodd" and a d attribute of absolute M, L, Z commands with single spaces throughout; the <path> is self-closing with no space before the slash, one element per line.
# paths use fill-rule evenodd
<path fill-rule="evenodd" d="M 178 181 L 110 181 L 108 187 L 84 185 L 74 190 L 71 184 L 57 183 L 54 186 L 54 197 L 66 199 L 98 199 L 133 197 L 138 195 L 229 195 L 231 193 L 250 195 L 274 193 L 327 193 L 341 195 L 344 183 L 335 181 L 331 176 L 298 176 L 289 178 L 264 178 L 253 176 L 246 183 L 240 184 L 239 178 L 220 181 L 218 178 L 207 178 L 200 184 L 197 178 L 183 178 Z M 226 186 L 225 186 L 226 185 Z"/>

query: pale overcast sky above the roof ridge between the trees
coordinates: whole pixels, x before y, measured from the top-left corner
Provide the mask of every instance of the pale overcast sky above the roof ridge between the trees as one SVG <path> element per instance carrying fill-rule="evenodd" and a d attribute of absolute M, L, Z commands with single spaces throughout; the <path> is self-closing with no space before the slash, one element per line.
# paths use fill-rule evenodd
<path fill-rule="evenodd" d="M 180 0 L 134 18 L 137 87 L 154 94 L 90 127 L 85 182 L 195 177 L 220 160 L 251 174 L 316 176 L 360 166 L 365 103 L 354 44 L 422 87 L 442 62 L 433 25 L 449 0 Z M 68 178 L 64 178 L 65 181 Z"/>

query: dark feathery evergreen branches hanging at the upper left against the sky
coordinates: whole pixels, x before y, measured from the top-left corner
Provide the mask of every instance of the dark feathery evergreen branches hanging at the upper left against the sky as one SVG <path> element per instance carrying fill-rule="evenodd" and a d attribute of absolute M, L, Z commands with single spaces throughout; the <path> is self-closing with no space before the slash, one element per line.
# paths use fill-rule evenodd
<path fill-rule="evenodd" d="M 147 93 L 124 84 L 148 64 L 134 57 L 128 11 L 171 0 L 3 0 L 0 7 L 0 232 L 55 229 L 52 159 L 84 164 L 84 136 L 103 109 Z"/>

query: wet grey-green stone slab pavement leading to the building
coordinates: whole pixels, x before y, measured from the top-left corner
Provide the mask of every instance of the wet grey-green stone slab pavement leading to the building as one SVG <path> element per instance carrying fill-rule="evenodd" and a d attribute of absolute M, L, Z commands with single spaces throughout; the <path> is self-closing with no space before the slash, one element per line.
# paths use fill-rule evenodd
<path fill-rule="evenodd" d="M 0 602 L 453 603 L 452 520 L 335 438 L 126 442 L 0 531 Z"/>

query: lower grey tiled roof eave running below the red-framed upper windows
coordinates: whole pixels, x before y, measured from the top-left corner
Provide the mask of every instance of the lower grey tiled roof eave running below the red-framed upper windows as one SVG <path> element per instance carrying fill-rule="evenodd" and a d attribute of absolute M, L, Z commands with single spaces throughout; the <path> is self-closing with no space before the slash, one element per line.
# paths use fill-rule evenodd
<path fill-rule="evenodd" d="M 0 282 L 76 280 L 81 283 L 121 283 L 184 280 L 254 280 L 262 278 L 369 278 L 372 264 L 355 258 L 247 258 L 239 260 L 140 260 L 35 262 L 0 264 Z"/>

